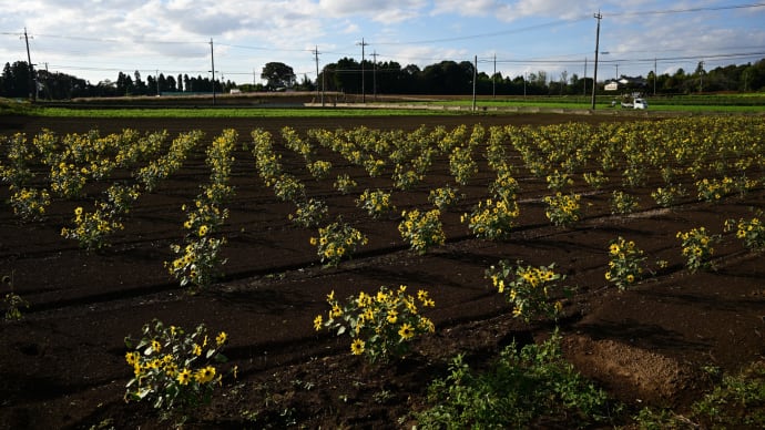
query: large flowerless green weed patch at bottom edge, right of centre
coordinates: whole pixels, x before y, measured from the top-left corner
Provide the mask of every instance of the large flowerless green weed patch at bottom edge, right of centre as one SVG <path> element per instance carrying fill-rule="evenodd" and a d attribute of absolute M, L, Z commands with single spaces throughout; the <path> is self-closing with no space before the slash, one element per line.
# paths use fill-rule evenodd
<path fill-rule="evenodd" d="M 508 346 L 491 367 L 472 372 L 458 355 L 428 388 L 418 429 L 584 428 L 608 422 L 606 395 L 563 359 L 561 336 Z"/>

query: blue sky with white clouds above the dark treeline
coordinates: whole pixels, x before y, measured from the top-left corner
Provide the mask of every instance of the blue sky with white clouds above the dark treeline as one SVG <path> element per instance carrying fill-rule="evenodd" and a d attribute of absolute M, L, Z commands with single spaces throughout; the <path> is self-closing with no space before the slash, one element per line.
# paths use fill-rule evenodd
<path fill-rule="evenodd" d="M 472 62 L 550 80 L 693 72 L 765 58 L 765 2 L 659 0 L 0 0 L 0 63 L 27 61 L 93 84 L 119 72 L 264 83 L 343 58 L 420 69 Z M 595 18 L 600 14 L 601 19 Z M 318 55 L 316 55 L 318 52 Z M 380 89 L 384 91 L 384 89 Z"/>

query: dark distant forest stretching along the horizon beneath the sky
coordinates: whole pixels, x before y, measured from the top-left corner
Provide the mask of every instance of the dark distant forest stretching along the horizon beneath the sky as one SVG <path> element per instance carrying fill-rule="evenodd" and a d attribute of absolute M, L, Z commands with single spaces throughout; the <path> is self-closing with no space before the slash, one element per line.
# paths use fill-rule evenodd
<path fill-rule="evenodd" d="M 132 74 L 120 72 L 115 81 L 104 80 L 95 84 L 83 79 L 60 72 L 47 70 L 30 71 L 24 61 L 6 63 L 0 76 L 0 96 L 3 98 L 35 98 L 40 100 L 69 100 L 84 96 L 122 96 L 122 95 L 156 95 L 156 94 L 191 94 L 210 93 L 215 90 L 218 93 L 238 89 L 242 92 L 251 91 L 340 91 L 348 94 L 360 94 L 364 82 L 366 94 L 472 94 L 473 63 L 468 61 L 441 61 L 420 69 L 409 64 L 401 66 L 390 61 L 373 63 L 365 61 L 360 64 L 354 59 L 344 58 L 336 63 L 327 64 L 319 73 L 316 81 L 307 76 L 295 79 L 292 68 L 283 63 L 278 64 L 286 76 L 277 82 L 286 85 L 275 88 L 273 80 L 268 84 L 237 84 L 236 82 L 220 80 L 213 82 L 210 78 L 190 76 L 187 74 L 145 75 L 139 71 Z M 361 68 L 364 65 L 364 68 Z M 364 70 L 364 75 L 361 73 Z M 265 74 L 264 68 L 264 74 Z M 279 78 L 279 76 L 277 76 Z M 661 74 L 655 76 L 653 71 L 646 76 L 633 78 L 631 82 L 639 82 L 642 89 L 652 94 L 654 89 L 657 94 L 690 94 L 698 92 L 751 92 L 765 90 L 765 59 L 755 63 L 741 65 L 718 66 L 713 70 L 704 70 L 700 62 L 694 71 L 677 70 L 674 74 Z M 636 78 L 636 79 L 634 79 Z M 608 81 L 608 80 L 606 80 Z M 601 81 L 602 83 L 602 81 Z M 585 86 L 586 85 L 586 86 Z M 35 89 L 37 88 L 37 89 Z M 484 72 L 478 73 L 476 81 L 477 94 L 496 95 L 579 95 L 589 93 L 592 88 L 592 78 L 583 79 L 567 72 L 552 76 L 544 71 L 529 73 L 526 76 L 502 76 L 497 73 L 493 76 Z M 35 89 L 35 90 L 34 90 Z M 32 91 L 34 90 L 34 92 Z M 603 85 L 599 84 L 599 91 Z"/>

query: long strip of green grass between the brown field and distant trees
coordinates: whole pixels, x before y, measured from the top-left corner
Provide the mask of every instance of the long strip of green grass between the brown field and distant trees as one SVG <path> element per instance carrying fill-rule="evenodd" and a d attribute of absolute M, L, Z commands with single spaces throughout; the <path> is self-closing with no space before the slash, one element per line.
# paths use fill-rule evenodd
<path fill-rule="evenodd" d="M 391 102 L 385 104 L 368 103 L 366 106 L 354 104 L 338 108 L 303 108 L 295 103 L 295 108 L 284 105 L 266 106 L 190 106 L 180 108 L 169 105 L 162 108 L 154 104 L 151 108 L 103 108 L 96 105 L 99 100 L 89 103 L 73 103 L 68 106 L 45 106 L 30 104 L 26 101 L 0 99 L 0 114 L 17 114 L 48 117 L 364 117 L 364 116 L 409 116 L 409 115 L 445 115 L 466 114 L 472 106 L 471 96 L 461 98 L 428 98 L 420 101 Z M 624 111 L 619 104 L 611 106 L 618 100 L 614 95 L 598 95 L 596 110 Z M 652 112 L 687 112 L 687 113 L 765 113 L 765 93 L 748 94 L 704 94 L 647 98 Z M 204 103 L 204 102 L 203 102 Z M 488 114 L 503 114 L 506 112 L 544 111 L 544 110 L 589 110 L 591 98 L 579 96 L 498 96 L 482 95 L 476 102 L 479 112 Z M 368 109 L 373 106 L 374 109 Z M 400 106 L 400 108 L 399 108 Z M 441 109 L 439 109 L 441 108 Z"/>

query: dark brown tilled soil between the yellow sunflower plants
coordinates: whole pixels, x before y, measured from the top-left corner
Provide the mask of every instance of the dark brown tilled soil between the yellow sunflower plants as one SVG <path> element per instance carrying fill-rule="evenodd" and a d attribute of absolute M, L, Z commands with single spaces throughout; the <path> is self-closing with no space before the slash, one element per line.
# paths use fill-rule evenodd
<path fill-rule="evenodd" d="M 289 125 L 303 135 L 314 127 L 335 130 L 412 130 L 425 124 L 481 123 L 543 125 L 568 121 L 634 121 L 623 116 L 519 114 L 508 116 L 422 116 L 366 119 L 267 120 L 100 120 L 0 117 L 0 134 L 41 129 L 58 134 L 101 134 L 124 127 L 167 130 L 171 136 L 203 130 L 206 142 L 224 129 L 236 129 L 239 142 L 256 127 L 272 131 Z M 577 294 L 567 301 L 560 321 L 564 350 L 577 368 L 593 378 L 630 408 L 644 405 L 685 408 L 706 385 L 700 367 L 714 365 L 736 371 L 762 359 L 765 342 L 765 265 L 762 254 L 743 249 L 730 234 L 716 247 L 716 270 L 690 274 L 675 233 L 705 226 L 723 233 L 727 218 L 751 215 L 765 207 L 765 190 L 745 199 L 728 196 L 720 204 L 690 197 L 672 211 L 655 207 L 649 196 L 657 184 L 641 192 L 641 209 L 631 216 L 611 216 L 609 196 L 619 181 L 599 194 L 583 197 L 585 218 L 573 228 L 549 225 L 539 197 L 543 180 L 528 174 L 521 182 L 520 227 L 506 242 L 478 240 L 459 216 L 486 197 L 490 174 L 482 168 L 467 198 L 445 215 L 447 245 L 416 255 L 407 249 L 396 226 L 399 218 L 375 221 L 355 207 L 365 187 L 390 187 L 389 175 L 365 178 L 363 171 L 344 164 L 330 152 L 336 175 L 345 168 L 359 182 L 354 193 L 333 192 L 332 180 L 317 182 L 294 153 L 280 145 L 285 167 L 322 196 L 332 216 L 353 219 L 370 238 L 351 260 L 322 268 L 309 244 L 314 229 L 294 226 L 287 215 L 294 205 L 279 202 L 257 176 L 249 152 L 237 149 L 224 227 L 225 275 L 220 284 L 188 295 L 169 276 L 163 262 L 170 245 L 183 237 L 181 212 L 193 201 L 208 171 L 198 151 L 183 170 L 152 194 L 142 195 L 125 229 L 100 252 L 80 249 L 60 236 L 72 209 L 82 201 L 54 201 L 43 222 L 21 223 L 9 205 L 0 206 L 0 275 L 12 275 L 16 293 L 30 303 L 20 321 L 0 324 L 0 428 L 165 428 L 147 405 L 125 403 L 124 387 L 132 371 L 125 364 L 123 338 L 139 336 L 143 324 L 159 318 L 192 329 L 204 322 L 228 332 L 225 354 L 238 366 L 236 380 L 224 379 L 210 407 L 196 411 L 193 428 L 400 428 L 411 424 L 408 413 L 424 402 L 428 383 L 446 371 L 451 357 L 465 352 L 472 360 L 489 357 L 513 339 L 521 344 L 549 336 L 551 322 L 526 325 L 510 316 L 501 296 L 490 288 L 483 272 L 499 259 L 523 259 L 532 265 L 555 263 Z M 479 157 L 480 158 L 480 157 Z M 483 160 L 480 161 L 484 163 Z M 484 164 L 483 164 L 483 167 Z M 427 192 L 448 181 L 445 158 L 431 168 L 426 183 L 411 192 L 394 193 L 399 209 L 427 206 Z M 649 175 L 656 181 L 656 174 Z M 333 176 L 334 177 L 334 176 Z M 580 191 L 589 188 L 579 184 Z M 694 190 L 692 186 L 686 188 Z M 93 184 L 92 196 L 98 196 Z M 591 190 L 590 190 L 591 191 Z M 358 192 L 358 193 L 357 193 Z M 9 197 L 0 188 L 0 201 Z M 635 240 L 649 257 L 666 268 L 635 288 L 619 291 L 603 278 L 609 240 Z M 655 265 L 654 265 L 655 267 Z M 347 297 L 379 286 L 425 288 L 436 307 L 427 315 L 436 334 L 416 344 L 415 352 L 391 365 L 371 367 L 348 354 L 347 338 L 317 334 L 313 319 L 326 313 L 325 297 L 335 290 Z M 4 295 L 6 291 L 3 291 Z"/>

